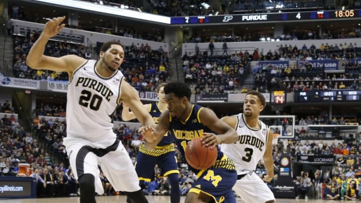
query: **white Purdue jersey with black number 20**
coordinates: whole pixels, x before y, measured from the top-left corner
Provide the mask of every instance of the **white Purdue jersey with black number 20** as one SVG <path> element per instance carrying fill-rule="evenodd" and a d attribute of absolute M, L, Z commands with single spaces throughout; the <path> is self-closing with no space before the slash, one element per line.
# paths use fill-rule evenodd
<path fill-rule="evenodd" d="M 67 136 L 111 145 L 116 138 L 111 116 L 119 105 L 123 74 L 116 71 L 110 77 L 102 77 L 95 70 L 96 63 L 88 60 L 69 80 Z"/>

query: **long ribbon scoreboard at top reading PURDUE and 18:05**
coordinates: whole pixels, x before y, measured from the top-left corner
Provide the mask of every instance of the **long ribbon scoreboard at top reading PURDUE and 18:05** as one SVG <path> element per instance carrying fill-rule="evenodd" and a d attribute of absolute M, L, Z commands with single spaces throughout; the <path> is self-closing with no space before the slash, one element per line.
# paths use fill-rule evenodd
<path fill-rule="evenodd" d="M 179 24 L 228 24 L 247 22 L 282 22 L 303 20 L 337 20 L 361 18 L 361 10 L 335 10 L 335 11 L 312 11 L 312 12 L 288 12 L 288 13 L 265 13 L 265 14 L 240 14 L 225 16 L 190 16 L 171 17 L 170 25 Z"/>

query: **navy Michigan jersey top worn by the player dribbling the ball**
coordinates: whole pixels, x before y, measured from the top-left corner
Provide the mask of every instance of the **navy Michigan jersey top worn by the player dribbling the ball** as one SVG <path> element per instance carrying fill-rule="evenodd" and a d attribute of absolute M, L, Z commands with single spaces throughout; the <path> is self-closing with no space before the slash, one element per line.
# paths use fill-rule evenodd
<path fill-rule="evenodd" d="M 192 105 L 190 115 L 188 116 L 186 122 L 180 121 L 179 119 L 170 116 L 169 114 L 169 131 L 174 137 L 175 144 L 178 146 L 180 153 L 185 157 L 185 149 L 189 141 L 197 138 L 203 137 L 203 133 L 213 133 L 211 129 L 204 126 L 199 118 L 199 113 L 202 110 L 202 106 Z M 217 146 L 218 156 L 217 160 L 220 160 L 223 157 L 223 152 Z M 188 164 L 189 165 L 189 164 Z M 189 167 L 195 173 L 198 173 L 200 170 L 195 169 L 189 165 Z"/>

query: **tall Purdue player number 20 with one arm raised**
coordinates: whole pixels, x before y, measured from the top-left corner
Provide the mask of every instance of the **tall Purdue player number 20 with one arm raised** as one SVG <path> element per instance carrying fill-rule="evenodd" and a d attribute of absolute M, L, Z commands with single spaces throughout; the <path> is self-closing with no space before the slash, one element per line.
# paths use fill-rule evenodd
<path fill-rule="evenodd" d="M 29 52 L 27 64 L 34 69 L 69 74 L 67 137 L 64 138 L 64 145 L 79 182 L 80 202 L 96 202 L 95 192 L 104 193 L 99 178 L 100 165 L 116 191 L 125 191 L 134 202 L 146 203 L 148 201 L 139 187 L 130 157 L 116 139 L 111 123 L 115 108 L 125 102 L 142 125 L 155 125 L 140 102 L 138 93 L 118 71 L 124 58 L 123 47 L 116 41 L 104 43 L 100 48 L 99 61 L 75 55 L 60 58 L 45 56 L 45 46 L 51 37 L 64 28 L 65 24 L 61 24 L 63 20 L 65 17 L 48 21 Z"/>

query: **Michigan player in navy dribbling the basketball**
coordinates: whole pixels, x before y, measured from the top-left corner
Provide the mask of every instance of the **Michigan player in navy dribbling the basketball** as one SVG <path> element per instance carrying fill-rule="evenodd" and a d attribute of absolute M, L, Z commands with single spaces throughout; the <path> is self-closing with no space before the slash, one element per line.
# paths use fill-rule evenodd
<path fill-rule="evenodd" d="M 147 148 L 154 148 L 167 131 L 174 138 L 183 157 L 187 143 L 197 137 L 203 137 L 203 142 L 212 148 L 218 148 L 220 143 L 231 144 L 238 140 L 236 131 L 221 121 L 211 109 L 191 104 L 191 89 L 185 83 L 168 83 L 164 93 L 168 109 L 161 113 L 155 128 L 145 127 L 142 130 L 144 135 L 158 137 L 153 143 L 145 143 Z M 198 179 L 189 190 L 186 203 L 236 202 L 232 191 L 237 180 L 235 165 L 220 149 L 212 167 L 203 170 L 190 165 L 188 167 L 197 174 Z"/>

